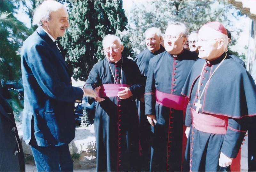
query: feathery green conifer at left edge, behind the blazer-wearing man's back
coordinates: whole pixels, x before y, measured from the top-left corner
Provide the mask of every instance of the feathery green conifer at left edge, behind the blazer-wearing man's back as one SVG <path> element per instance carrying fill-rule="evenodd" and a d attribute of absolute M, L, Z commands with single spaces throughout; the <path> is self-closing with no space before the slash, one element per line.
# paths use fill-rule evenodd
<path fill-rule="evenodd" d="M 13 16 L 17 3 L 0 1 L 0 80 L 2 82 L 18 81 L 21 78 L 18 52 L 29 30 Z"/>

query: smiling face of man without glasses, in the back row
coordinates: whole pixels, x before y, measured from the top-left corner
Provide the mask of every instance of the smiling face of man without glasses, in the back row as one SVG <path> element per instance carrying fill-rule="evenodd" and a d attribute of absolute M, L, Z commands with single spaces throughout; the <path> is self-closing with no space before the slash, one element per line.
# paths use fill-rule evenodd
<path fill-rule="evenodd" d="M 157 36 L 156 33 L 147 33 L 146 37 L 146 46 L 149 51 L 155 52 L 160 49 L 160 43 L 162 41 L 161 36 Z"/>

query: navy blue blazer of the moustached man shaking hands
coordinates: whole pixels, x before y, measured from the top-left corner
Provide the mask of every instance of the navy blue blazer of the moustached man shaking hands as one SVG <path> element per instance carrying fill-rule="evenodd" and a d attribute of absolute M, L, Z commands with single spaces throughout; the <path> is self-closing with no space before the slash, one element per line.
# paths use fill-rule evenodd
<path fill-rule="evenodd" d="M 60 146 L 75 137 L 74 102 L 83 90 L 73 87 L 68 68 L 52 39 L 38 27 L 23 44 L 23 139 L 27 144 Z"/>

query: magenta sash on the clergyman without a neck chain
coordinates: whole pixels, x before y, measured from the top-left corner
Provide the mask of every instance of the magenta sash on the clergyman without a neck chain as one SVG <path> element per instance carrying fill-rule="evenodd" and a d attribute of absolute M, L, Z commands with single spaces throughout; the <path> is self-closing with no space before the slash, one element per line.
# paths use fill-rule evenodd
<path fill-rule="evenodd" d="M 181 97 L 173 94 L 167 94 L 156 90 L 156 102 L 165 107 L 177 110 L 186 110 L 188 97 Z"/>

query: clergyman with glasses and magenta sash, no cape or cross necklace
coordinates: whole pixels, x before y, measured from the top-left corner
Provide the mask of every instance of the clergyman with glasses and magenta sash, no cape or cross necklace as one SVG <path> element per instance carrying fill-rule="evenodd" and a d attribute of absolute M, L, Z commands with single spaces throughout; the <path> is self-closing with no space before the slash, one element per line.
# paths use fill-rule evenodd
<path fill-rule="evenodd" d="M 187 27 L 171 22 L 164 36 L 164 51 L 149 61 L 145 88 L 145 107 L 152 125 L 150 171 L 181 171 L 183 140 L 183 110 L 187 99 L 181 89 L 196 53 L 185 50 Z M 185 141 L 184 140 L 184 141 Z M 186 142 L 184 142 L 186 144 Z"/>

